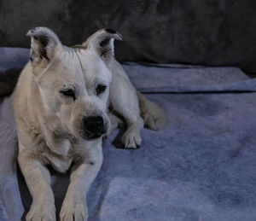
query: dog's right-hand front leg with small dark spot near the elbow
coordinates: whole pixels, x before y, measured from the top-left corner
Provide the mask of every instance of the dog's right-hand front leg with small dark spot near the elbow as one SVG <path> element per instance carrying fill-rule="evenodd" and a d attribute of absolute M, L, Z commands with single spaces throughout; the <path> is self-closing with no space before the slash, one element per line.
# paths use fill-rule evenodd
<path fill-rule="evenodd" d="M 84 221 L 88 218 L 86 195 L 102 166 L 102 147 L 90 147 L 72 167 L 70 184 L 61 206 L 61 221 Z"/>

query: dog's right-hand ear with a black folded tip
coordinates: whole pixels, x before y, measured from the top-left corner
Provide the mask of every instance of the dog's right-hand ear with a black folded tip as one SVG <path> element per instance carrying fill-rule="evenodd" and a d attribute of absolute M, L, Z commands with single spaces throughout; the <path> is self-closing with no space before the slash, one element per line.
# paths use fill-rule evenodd
<path fill-rule="evenodd" d="M 95 32 L 82 45 L 84 48 L 95 50 L 96 53 L 102 57 L 102 60 L 108 63 L 112 61 L 114 55 L 114 40 L 122 40 L 122 36 L 119 32 L 105 28 Z"/>

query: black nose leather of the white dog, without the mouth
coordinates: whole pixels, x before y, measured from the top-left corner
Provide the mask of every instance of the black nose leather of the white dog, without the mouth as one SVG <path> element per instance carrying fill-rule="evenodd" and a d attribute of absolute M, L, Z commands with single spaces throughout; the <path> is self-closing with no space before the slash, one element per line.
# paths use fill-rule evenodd
<path fill-rule="evenodd" d="M 90 116 L 84 119 L 84 126 L 87 131 L 93 134 L 103 134 L 106 132 L 104 120 L 101 116 Z"/>

